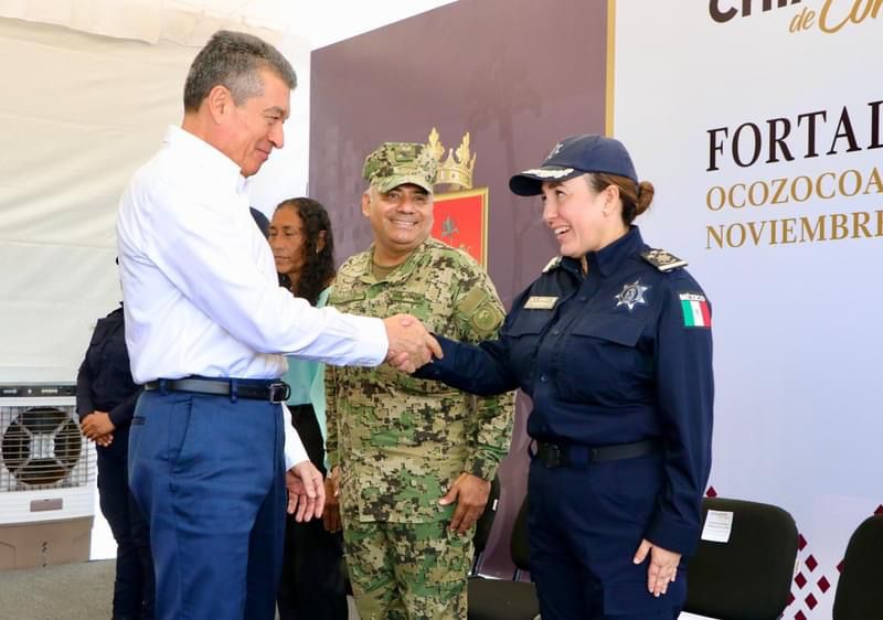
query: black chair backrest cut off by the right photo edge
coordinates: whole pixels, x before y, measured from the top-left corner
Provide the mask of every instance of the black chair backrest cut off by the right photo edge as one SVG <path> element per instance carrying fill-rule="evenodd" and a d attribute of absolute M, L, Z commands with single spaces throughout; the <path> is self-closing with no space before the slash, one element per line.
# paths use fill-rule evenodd
<path fill-rule="evenodd" d="M 837 582 L 833 620 L 869 620 L 883 613 L 883 514 L 862 522 L 849 539 Z"/>

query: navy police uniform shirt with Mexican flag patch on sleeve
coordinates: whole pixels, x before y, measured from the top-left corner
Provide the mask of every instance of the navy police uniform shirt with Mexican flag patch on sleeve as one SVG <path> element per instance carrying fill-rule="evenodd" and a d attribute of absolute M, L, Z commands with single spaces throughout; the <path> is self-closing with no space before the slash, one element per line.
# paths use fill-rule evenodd
<path fill-rule="evenodd" d="M 667 483 L 646 531 L 694 550 L 711 468 L 711 307 L 681 268 L 661 271 L 639 229 L 579 260 L 556 258 L 512 303 L 500 339 L 439 338 L 445 357 L 416 376 L 476 394 L 520 387 L 533 399 L 528 434 L 600 447 L 660 438 Z"/>

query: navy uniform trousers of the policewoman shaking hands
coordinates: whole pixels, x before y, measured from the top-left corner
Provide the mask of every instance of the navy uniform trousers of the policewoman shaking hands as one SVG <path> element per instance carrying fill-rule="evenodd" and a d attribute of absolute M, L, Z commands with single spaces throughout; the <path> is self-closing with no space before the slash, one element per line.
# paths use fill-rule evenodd
<path fill-rule="evenodd" d="M 543 620 L 674 620 L 687 571 L 668 594 L 647 590 L 649 555 L 635 552 L 662 485 L 659 455 L 549 468 L 531 462 L 528 530 L 531 577 Z"/>

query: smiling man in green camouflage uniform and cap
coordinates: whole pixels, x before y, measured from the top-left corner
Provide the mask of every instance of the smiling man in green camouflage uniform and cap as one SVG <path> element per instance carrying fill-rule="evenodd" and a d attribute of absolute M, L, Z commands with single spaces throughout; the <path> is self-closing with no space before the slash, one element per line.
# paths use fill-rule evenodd
<path fill-rule="evenodd" d="M 429 238 L 436 160 L 387 142 L 365 160 L 374 244 L 338 271 L 344 312 L 409 312 L 456 340 L 492 338 L 503 308 L 466 253 Z M 389 366 L 327 368 L 328 459 L 362 620 L 466 618 L 471 534 L 509 450 L 512 394 L 476 397 Z"/>

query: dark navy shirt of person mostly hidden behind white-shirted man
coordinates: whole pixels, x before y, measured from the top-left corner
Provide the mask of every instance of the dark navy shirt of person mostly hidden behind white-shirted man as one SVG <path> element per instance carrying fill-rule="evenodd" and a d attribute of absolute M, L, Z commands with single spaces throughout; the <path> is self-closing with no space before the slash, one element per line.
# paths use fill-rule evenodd
<path fill-rule="evenodd" d="M 126 349 L 126 325 L 120 306 L 99 319 L 76 381 L 76 410 L 83 419 L 92 411 L 107 411 L 117 429 L 131 424 L 141 393 L 131 377 Z"/>

